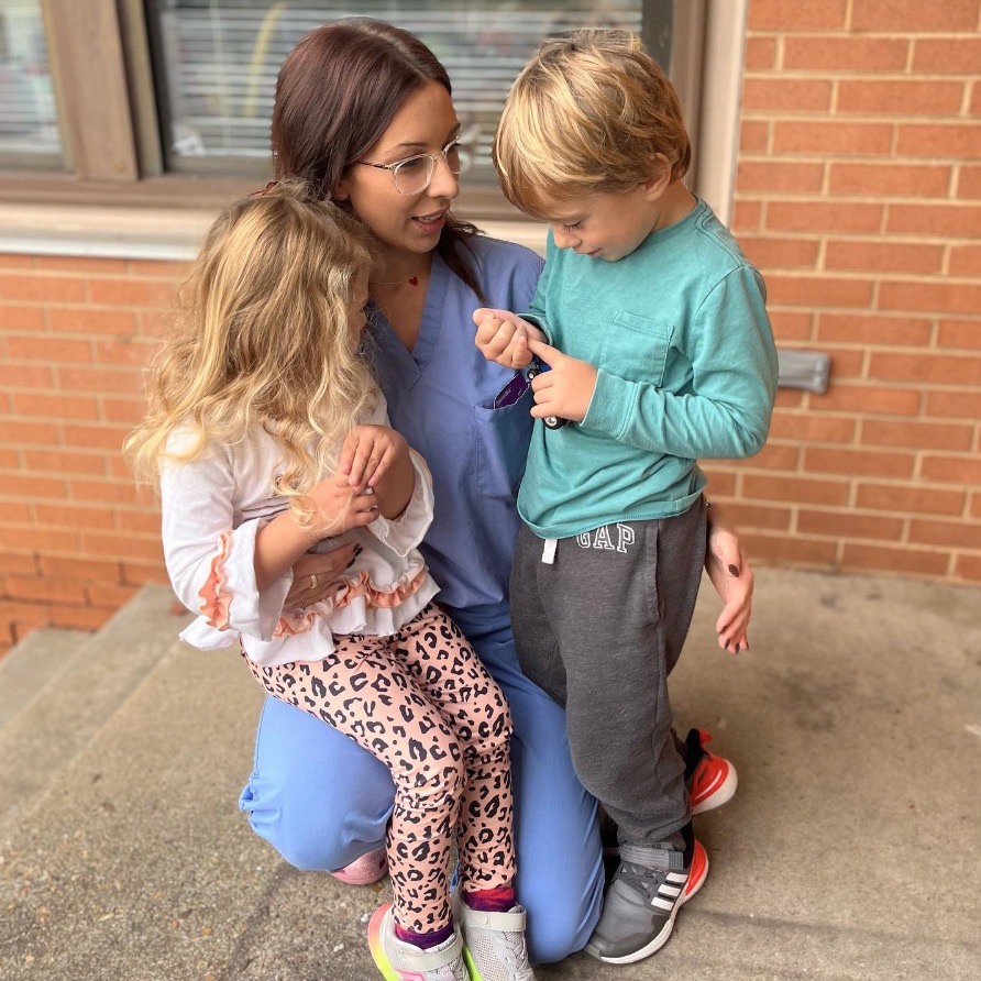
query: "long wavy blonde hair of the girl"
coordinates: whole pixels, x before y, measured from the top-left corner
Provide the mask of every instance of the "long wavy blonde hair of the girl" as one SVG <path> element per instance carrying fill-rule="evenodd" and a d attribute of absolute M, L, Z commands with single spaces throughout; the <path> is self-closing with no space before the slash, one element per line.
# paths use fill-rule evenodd
<path fill-rule="evenodd" d="M 125 442 L 137 475 L 155 480 L 162 458 L 187 462 L 262 426 L 284 450 L 276 490 L 306 514 L 304 494 L 374 404 L 352 327 L 370 265 L 364 228 L 304 185 L 279 183 L 222 213 L 178 291 L 146 416 Z M 177 429 L 194 436 L 179 453 L 167 450 Z"/>

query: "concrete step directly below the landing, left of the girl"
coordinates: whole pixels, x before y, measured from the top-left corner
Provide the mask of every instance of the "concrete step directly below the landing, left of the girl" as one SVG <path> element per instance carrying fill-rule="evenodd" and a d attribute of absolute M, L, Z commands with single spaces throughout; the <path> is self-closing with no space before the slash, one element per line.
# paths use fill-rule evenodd
<path fill-rule="evenodd" d="M 0 729 L 0 840 L 173 646 L 189 615 L 172 603 L 169 589 L 144 586 Z M 20 655 L 11 670 L 30 671 Z"/>

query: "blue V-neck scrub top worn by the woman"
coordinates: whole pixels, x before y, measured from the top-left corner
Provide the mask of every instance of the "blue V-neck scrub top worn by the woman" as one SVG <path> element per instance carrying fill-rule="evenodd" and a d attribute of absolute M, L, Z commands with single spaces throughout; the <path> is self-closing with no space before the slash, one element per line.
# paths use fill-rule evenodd
<path fill-rule="evenodd" d="M 543 265 L 521 245 L 466 241 L 486 304 L 433 253 L 414 349 L 406 350 L 377 307 L 370 318 L 392 425 L 432 473 L 436 516 L 421 551 L 441 587 L 437 599 L 458 608 L 507 602 L 515 501 L 533 421 L 530 392 L 494 407 L 516 372 L 477 351 L 472 315 L 482 306 L 527 310 Z"/>

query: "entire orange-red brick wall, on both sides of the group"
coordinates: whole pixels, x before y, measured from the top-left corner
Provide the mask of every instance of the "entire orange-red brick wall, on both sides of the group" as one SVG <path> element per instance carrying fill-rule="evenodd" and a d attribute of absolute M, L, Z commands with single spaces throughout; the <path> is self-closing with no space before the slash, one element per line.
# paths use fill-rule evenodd
<path fill-rule="evenodd" d="M 734 225 L 833 357 L 708 467 L 757 562 L 981 582 L 979 8 L 751 0 Z M 165 581 L 119 448 L 183 269 L 0 255 L 0 653 Z"/>

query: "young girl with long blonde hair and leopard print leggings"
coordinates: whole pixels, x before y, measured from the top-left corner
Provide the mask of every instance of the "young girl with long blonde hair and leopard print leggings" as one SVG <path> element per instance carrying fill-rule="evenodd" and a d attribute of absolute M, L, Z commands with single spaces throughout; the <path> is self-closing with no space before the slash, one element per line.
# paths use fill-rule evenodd
<path fill-rule="evenodd" d="M 469 981 L 470 965 L 533 981 L 512 890 L 510 716 L 432 603 L 416 549 L 431 484 L 388 427 L 364 354 L 368 268 L 363 227 L 301 186 L 233 205 L 194 266 L 128 449 L 159 478 L 167 570 L 200 614 L 184 639 L 238 640 L 267 692 L 392 773 L 395 902 L 368 927 L 385 978 Z M 352 539 L 329 595 L 311 575 L 284 608 L 297 559 Z M 450 907 L 454 833 L 469 949 Z"/>

